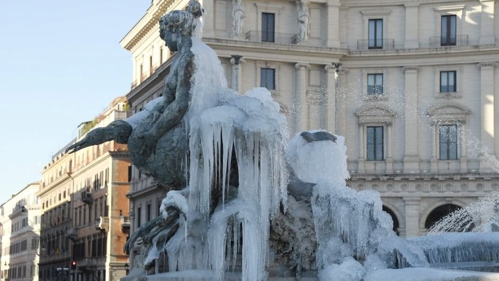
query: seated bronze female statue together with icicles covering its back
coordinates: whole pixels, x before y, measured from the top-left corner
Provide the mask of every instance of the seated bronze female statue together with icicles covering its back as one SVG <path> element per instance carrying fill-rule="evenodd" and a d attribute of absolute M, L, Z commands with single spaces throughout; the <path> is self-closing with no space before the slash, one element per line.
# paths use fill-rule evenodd
<path fill-rule="evenodd" d="M 161 38 L 176 52 L 163 96 L 67 151 L 126 143 L 132 163 L 170 190 L 162 215 L 125 245 L 142 241 L 143 270 L 166 252 L 170 271 L 211 269 L 222 280 L 238 260 L 244 280 L 262 280 L 270 218 L 287 196 L 286 119 L 265 88 L 240 95 L 226 86 L 220 60 L 200 40 L 201 15 L 190 1 L 160 20 Z"/>

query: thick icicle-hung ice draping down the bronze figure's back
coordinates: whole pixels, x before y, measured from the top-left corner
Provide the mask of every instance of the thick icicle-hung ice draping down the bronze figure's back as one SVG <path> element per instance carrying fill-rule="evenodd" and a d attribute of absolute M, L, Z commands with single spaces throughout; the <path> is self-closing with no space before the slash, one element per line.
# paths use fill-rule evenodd
<path fill-rule="evenodd" d="M 170 271 L 211 269 L 214 279 L 223 280 L 242 249 L 242 279 L 263 280 L 269 220 L 287 196 L 285 117 L 264 88 L 243 96 L 228 89 L 218 57 L 200 40 L 193 39 L 191 50 L 196 71 L 185 117 L 188 186 L 170 191 L 161 209 L 167 215 L 167 207 L 175 206 L 187 221 L 178 219 L 178 230 L 166 245 L 160 247 L 156 236 L 146 261 L 166 250 Z M 235 166 L 238 186 L 231 186 Z"/>

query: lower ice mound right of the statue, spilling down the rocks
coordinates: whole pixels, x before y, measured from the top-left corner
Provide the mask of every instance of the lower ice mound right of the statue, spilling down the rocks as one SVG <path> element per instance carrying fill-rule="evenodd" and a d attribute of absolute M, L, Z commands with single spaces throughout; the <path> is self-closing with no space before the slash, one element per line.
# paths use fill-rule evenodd
<path fill-rule="evenodd" d="M 382 211 L 378 192 L 359 192 L 346 186 L 343 143 L 343 137 L 335 142 L 307 142 L 297 136 L 287 153 L 288 163 L 300 180 L 315 184 L 311 202 L 321 280 L 338 276 L 359 280 L 366 270 L 428 266 L 417 245 L 392 231 L 393 222 Z M 365 267 L 353 258 L 365 261 Z"/>

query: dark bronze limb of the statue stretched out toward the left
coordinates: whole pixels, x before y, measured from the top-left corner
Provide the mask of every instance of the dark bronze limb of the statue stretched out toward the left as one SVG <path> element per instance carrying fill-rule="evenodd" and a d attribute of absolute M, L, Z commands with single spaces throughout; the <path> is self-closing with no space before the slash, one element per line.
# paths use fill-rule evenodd
<path fill-rule="evenodd" d="M 115 140 L 118 143 L 127 143 L 132 132 L 132 126 L 124 120 L 115 120 L 109 125 L 95 128 L 88 132 L 79 142 L 66 148 L 66 153 L 74 153 L 87 146 L 97 145 L 106 141 Z"/>

